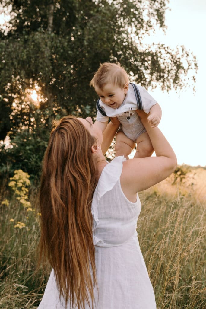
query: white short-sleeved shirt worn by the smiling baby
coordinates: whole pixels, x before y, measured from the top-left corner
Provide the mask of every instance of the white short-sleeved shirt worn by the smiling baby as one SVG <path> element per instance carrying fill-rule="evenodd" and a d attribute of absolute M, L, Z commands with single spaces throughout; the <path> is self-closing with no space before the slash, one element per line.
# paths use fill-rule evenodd
<path fill-rule="evenodd" d="M 155 105 L 157 101 L 149 94 L 149 92 L 144 87 L 140 85 L 137 85 L 137 87 L 140 92 L 143 110 L 145 111 L 145 113 L 148 114 L 150 108 Z M 99 100 L 99 105 L 107 114 L 107 117 L 104 117 L 99 111 L 97 111 L 96 120 L 101 122 L 108 121 L 109 117 L 118 117 L 123 115 L 125 112 L 135 111 L 137 109 L 137 100 L 132 85 L 129 84 L 128 92 L 119 108 L 112 108 L 111 106 L 104 104 L 101 99 Z"/>

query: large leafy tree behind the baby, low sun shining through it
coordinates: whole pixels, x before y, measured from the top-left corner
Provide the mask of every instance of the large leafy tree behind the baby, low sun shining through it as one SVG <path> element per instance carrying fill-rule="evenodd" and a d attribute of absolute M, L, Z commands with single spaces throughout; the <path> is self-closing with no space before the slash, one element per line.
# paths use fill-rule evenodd
<path fill-rule="evenodd" d="M 132 80 L 146 88 L 185 87 L 188 70 L 197 69 L 192 54 L 184 47 L 142 45 L 153 28 L 166 28 L 167 3 L 3 1 L 4 8 L 12 5 L 12 18 L 0 42 L 0 104 L 5 111 L 0 116 L 1 138 L 9 134 L 15 139 L 22 129 L 32 134 L 42 123 L 49 132 L 57 115 L 95 116 L 96 94 L 89 82 L 99 62 L 120 61 Z M 38 100 L 32 104 L 34 89 Z M 32 115 L 38 110 L 41 117 L 33 120 L 31 105 Z"/>

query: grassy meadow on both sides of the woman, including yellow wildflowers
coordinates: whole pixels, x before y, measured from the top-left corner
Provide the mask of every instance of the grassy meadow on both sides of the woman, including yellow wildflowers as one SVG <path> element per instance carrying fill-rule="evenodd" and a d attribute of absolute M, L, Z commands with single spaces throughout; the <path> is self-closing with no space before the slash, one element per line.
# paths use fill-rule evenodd
<path fill-rule="evenodd" d="M 157 308 L 205 309 L 206 170 L 180 167 L 139 196 L 137 232 Z M 17 172 L 1 183 L 1 309 L 38 307 L 48 280 L 49 266 L 35 272 L 37 197 L 26 173 Z"/>

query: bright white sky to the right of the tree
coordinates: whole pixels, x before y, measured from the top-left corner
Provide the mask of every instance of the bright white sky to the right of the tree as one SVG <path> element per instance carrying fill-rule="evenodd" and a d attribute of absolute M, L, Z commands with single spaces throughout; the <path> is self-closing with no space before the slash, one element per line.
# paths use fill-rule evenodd
<path fill-rule="evenodd" d="M 184 45 L 196 56 L 195 93 L 193 85 L 169 93 L 148 89 L 162 108 L 159 128 L 173 147 L 178 164 L 206 166 L 206 1 L 170 0 L 166 11 L 166 34 L 157 32 L 145 38 L 145 43 L 163 43 L 170 48 Z M 0 22 L 3 16 L 0 14 Z"/>

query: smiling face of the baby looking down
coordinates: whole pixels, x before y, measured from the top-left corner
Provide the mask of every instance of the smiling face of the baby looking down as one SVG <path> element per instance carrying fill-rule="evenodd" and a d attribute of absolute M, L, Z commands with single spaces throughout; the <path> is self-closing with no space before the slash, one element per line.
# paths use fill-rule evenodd
<path fill-rule="evenodd" d="M 102 102 L 112 108 L 118 108 L 124 101 L 125 95 L 128 91 L 128 84 L 124 88 L 120 88 L 113 84 L 106 84 L 103 90 L 95 87 L 96 93 L 99 95 Z"/>

